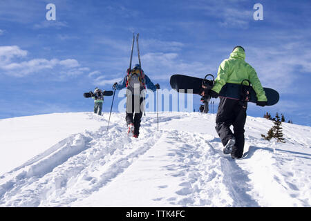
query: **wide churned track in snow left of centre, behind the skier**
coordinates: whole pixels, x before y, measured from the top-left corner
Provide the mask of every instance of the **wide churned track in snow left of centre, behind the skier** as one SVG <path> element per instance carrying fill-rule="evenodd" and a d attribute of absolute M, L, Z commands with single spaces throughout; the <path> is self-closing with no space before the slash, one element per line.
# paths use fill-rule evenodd
<path fill-rule="evenodd" d="M 1 176 L 2 206 L 66 206 L 85 198 L 122 173 L 156 141 L 133 140 L 122 126 L 72 135 L 23 166 Z M 88 186 L 86 188 L 86 186 Z"/>

